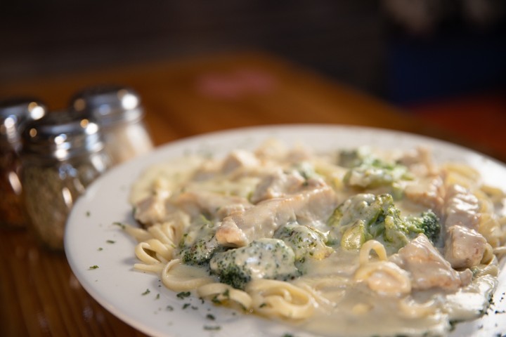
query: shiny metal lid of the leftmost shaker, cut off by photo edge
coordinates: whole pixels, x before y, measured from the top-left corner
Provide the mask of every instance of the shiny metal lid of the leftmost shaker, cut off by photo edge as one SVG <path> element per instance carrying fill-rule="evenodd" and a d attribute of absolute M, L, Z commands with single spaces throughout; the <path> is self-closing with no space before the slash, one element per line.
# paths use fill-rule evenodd
<path fill-rule="evenodd" d="M 22 127 L 29 121 L 41 119 L 46 112 L 46 105 L 34 98 L 0 101 L 0 142 L 17 143 Z"/>

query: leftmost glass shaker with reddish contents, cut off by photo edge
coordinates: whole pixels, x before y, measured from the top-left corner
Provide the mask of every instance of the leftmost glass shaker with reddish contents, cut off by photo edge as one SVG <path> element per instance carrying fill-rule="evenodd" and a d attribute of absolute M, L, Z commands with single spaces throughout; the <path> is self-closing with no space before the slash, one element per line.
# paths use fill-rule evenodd
<path fill-rule="evenodd" d="M 33 98 L 13 98 L 0 102 L 0 227 L 24 228 L 20 181 L 20 133 L 27 121 L 40 119 L 46 107 Z"/>

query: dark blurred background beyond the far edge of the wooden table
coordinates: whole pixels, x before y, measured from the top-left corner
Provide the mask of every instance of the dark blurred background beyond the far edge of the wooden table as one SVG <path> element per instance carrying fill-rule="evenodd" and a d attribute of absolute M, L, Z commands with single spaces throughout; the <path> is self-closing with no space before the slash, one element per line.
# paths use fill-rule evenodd
<path fill-rule="evenodd" d="M 0 81 L 260 50 L 506 152 L 503 0 L 0 2 Z"/>

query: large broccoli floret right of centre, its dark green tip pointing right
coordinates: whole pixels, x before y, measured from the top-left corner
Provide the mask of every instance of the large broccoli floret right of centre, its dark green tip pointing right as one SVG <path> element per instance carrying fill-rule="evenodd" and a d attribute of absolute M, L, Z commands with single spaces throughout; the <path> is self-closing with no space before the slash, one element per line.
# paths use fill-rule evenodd
<path fill-rule="evenodd" d="M 398 250 L 420 233 L 434 241 L 441 227 L 432 211 L 402 217 L 390 194 L 356 194 L 335 209 L 327 224 L 330 239 L 344 249 L 358 249 L 370 239 L 380 239 Z"/>

